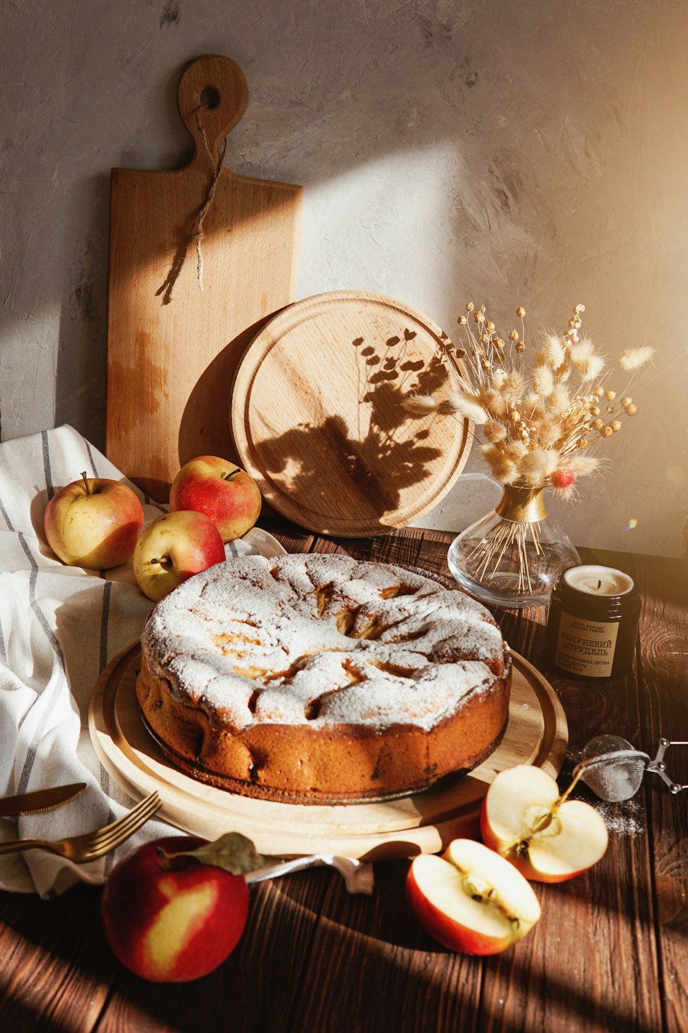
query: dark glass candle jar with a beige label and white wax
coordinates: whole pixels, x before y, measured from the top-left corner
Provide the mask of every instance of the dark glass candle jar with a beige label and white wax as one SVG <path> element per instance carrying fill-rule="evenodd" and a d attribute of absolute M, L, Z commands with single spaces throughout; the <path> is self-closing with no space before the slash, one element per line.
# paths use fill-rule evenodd
<path fill-rule="evenodd" d="M 547 622 L 548 658 L 577 678 L 617 678 L 630 670 L 641 600 L 622 570 L 585 564 L 559 577 Z"/>

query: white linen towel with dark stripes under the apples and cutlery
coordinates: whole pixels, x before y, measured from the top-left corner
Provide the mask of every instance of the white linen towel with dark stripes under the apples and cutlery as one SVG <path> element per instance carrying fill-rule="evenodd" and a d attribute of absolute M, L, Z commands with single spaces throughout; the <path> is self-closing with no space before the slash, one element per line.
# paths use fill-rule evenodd
<path fill-rule="evenodd" d="M 45 544 L 45 505 L 83 470 L 130 483 L 68 426 L 0 444 L 0 796 L 71 782 L 88 786 L 57 810 L 1 818 L 0 841 L 86 833 L 133 806 L 95 754 L 89 701 L 108 661 L 140 636 L 153 603 L 136 586 L 131 561 L 104 572 L 84 570 L 64 566 Z M 150 523 L 164 507 L 130 487 Z M 274 539 L 264 539 L 256 529 L 228 544 L 228 558 L 269 552 Z M 0 856 L 0 888 L 48 898 L 79 880 L 101 883 L 118 859 L 174 832 L 149 821 L 118 851 L 88 865 L 37 850 Z"/>

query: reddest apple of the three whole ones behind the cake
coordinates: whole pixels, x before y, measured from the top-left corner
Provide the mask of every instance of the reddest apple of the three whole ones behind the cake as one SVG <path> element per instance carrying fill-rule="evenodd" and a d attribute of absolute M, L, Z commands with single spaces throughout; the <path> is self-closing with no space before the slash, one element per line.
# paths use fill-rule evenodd
<path fill-rule="evenodd" d="M 218 527 L 223 541 L 240 538 L 260 516 L 261 497 L 253 477 L 236 463 L 198 456 L 185 463 L 172 481 L 171 510 L 195 509 Z"/>

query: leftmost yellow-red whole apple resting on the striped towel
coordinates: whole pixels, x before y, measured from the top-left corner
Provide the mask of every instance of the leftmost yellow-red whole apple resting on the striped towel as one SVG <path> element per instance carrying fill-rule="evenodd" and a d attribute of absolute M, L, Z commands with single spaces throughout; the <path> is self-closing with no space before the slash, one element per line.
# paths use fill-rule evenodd
<path fill-rule="evenodd" d="M 143 526 L 143 508 L 127 484 L 87 477 L 57 492 L 43 514 L 48 545 L 63 563 L 107 570 L 126 563 Z"/>

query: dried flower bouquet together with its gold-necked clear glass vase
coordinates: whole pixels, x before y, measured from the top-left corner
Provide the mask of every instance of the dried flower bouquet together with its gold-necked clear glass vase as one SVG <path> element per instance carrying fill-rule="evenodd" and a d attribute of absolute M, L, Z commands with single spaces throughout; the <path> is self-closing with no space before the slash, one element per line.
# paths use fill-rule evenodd
<path fill-rule="evenodd" d="M 504 495 L 496 520 L 488 520 L 480 533 L 478 525 L 468 529 L 467 540 L 460 535 L 460 550 L 452 546 L 469 576 L 457 574 L 452 550 L 450 566 L 464 587 L 478 587 L 477 594 L 488 601 L 505 596 L 513 604 L 521 596 L 521 604 L 527 597 L 544 601 L 559 569 L 571 562 L 565 550 L 557 555 L 554 543 L 543 541 L 545 489 L 570 498 L 579 479 L 599 468 L 591 447 L 620 431 L 636 411 L 630 382 L 654 349 L 628 349 L 608 366 L 592 341 L 580 334 L 584 311 L 585 306 L 577 305 L 565 333 L 546 334 L 538 345 L 529 345 L 523 306 L 516 310 L 521 330 L 503 338 L 485 306 L 476 311 L 469 302 L 458 320 L 465 346 L 440 343 L 452 377 L 449 396 L 438 400 L 415 394 L 402 403 L 412 415 L 454 414 L 480 428 L 482 455 Z M 615 370 L 629 374 L 620 393 L 610 386 Z M 569 552 L 578 555 L 572 546 Z M 486 582 L 494 585 L 481 592 Z"/>

